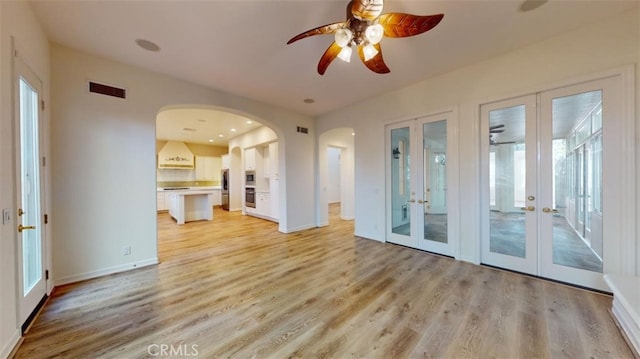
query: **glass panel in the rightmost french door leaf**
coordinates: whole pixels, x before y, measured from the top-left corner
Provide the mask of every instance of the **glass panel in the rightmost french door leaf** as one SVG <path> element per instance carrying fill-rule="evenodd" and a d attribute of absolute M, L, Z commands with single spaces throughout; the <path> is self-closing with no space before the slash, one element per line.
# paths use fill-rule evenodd
<path fill-rule="evenodd" d="M 553 263 L 602 272 L 602 91 L 552 100 Z"/>

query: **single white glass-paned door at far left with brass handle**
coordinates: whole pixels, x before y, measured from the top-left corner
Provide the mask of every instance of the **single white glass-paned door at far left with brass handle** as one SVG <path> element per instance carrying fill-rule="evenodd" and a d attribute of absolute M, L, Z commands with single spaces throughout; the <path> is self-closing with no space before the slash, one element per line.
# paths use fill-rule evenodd
<path fill-rule="evenodd" d="M 15 58 L 18 301 L 20 323 L 28 320 L 46 295 L 43 228 L 43 173 L 40 161 L 41 82 Z"/>

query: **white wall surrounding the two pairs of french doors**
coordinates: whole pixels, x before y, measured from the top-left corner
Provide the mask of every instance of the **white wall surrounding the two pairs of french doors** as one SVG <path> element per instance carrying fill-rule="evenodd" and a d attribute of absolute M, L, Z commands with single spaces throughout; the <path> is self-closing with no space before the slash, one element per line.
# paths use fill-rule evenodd
<path fill-rule="evenodd" d="M 461 212 L 465 220 L 460 225 L 461 259 L 478 261 L 478 104 L 535 92 L 560 80 L 637 65 L 639 18 L 640 12 L 634 9 L 321 116 L 317 121 L 319 133 L 344 126 L 352 126 L 357 133 L 356 235 L 385 240 L 385 228 L 379 225 L 385 223 L 384 125 L 457 107 L 460 198 L 465 204 Z M 636 94 L 640 93 L 639 72 L 636 71 Z M 635 116 L 637 123 L 637 113 Z M 640 266 L 640 250 L 636 263 Z"/>

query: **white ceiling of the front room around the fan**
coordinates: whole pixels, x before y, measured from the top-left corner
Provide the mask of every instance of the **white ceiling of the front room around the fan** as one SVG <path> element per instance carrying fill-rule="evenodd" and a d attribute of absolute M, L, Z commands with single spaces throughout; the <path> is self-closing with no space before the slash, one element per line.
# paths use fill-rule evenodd
<path fill-rule="evenodd" d="M 232 94 L 311 116 L 541 41 L 638 1 L 550 0 L 521 12 L 519 0 L 387 0 L 383 13 L 444 13 L 433 30 L 383 39 L 391 73 L 369 71 L 357 57 L 336 59 L 324 76 L 320 56 L 333 41 L 308 29 L 342 21 L 347 0 L 32 1 L 50 39 Z M 149 52 L 136 39 L 157 43 Z M 313 104 L 303 102 L 315 100 Z"/>

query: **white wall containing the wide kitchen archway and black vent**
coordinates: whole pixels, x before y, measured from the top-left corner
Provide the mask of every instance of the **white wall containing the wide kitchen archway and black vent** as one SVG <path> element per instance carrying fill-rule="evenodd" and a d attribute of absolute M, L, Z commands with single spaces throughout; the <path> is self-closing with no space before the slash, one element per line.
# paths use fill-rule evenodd
<path fill-rule="evenodd" d="M 286 229 L 314 224 L 314 143 L 295 133 L 312 119 L 57 44 L 51 60 L 56 284 L 157 260 L 155 124 L 166 106 L 215 106 L 274 128 L 287 168 L 299 170 L 286 173 L 295 184 L 283 191 L 294 208 L 283 213 Z M 88 79 L 122 86 L 128 98 L 88 93 Z"/>

